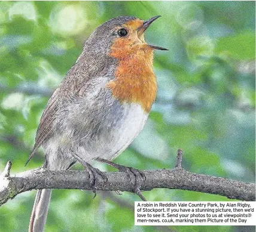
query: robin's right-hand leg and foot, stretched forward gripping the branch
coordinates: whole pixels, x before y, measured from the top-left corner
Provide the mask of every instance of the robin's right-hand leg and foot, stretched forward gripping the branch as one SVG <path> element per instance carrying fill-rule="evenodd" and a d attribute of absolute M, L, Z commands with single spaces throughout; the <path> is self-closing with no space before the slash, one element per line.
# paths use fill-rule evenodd
<path fill-rule="evenodd" d="M 141 193 L 141 190 L 139 189 L 141 187 L 141 182 L 144 182 L 146 180 L 146 176 L 145 176 L 144 172 L 141 172 L 135 168 L 118 165 L 117 163 L 113 163 L 106 159 L 97 158 L 96 160 L 101 163 L 105 163 L 106 165 L 112 166 L 113 168 L 118 169 L 120 172 L 126 172 L 128 177 L 130 178 L 130 181 L 132 180 L 132 176 L 134 176 L 135 177 L 134 192 L 139 197 L 141 197 L 142 200 L 146 201 L 145 197 Z"/>

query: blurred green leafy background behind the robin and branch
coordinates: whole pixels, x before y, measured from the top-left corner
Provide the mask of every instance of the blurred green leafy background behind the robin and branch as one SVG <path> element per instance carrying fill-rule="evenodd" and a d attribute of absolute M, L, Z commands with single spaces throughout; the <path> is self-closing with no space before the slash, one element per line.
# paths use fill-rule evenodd
<path fill-rule="evenodd" d="M 0 170 L 24 167 L 54 88 L 83 41 L 112 17 L 161 15 L 147 30 L 159 90 L 145 129 L 115 162 L 138 169 L 184 168 L 255 181 L 255 2 L 0 2 Z M 103 32 L 102 32 L 103 33 Z M 103 171 L 113 169 L 98 165 Z M 80 165 L 75 166 L 81 169 Z M 0 208 L 0 231 L 28 230 L 35 191 Z M 227 200 L 182 190 L 145 192 L 148 200 Z M 54 190 L 45 231 L 254 231 L 254 227 L 135 227 L 131 193 Z"/>

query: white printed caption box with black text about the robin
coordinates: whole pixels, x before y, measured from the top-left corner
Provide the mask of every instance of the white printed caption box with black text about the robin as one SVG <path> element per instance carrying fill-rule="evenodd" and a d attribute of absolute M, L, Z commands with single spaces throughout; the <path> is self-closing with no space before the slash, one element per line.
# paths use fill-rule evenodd
<path fill-rule="evenodd" d="M 135 202 L 135 225 L 256 225 L 256 202 Z"/>

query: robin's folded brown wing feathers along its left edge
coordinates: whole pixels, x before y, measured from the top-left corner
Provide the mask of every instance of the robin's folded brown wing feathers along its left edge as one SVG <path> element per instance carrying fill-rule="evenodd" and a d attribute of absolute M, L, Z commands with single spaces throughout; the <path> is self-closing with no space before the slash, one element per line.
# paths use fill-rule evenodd
<path fill-rule="evenodd" d="M 42 143 L 44 143 L 44 141 L 50 138 L 53 134 L 54 120 L 56 120 L 56 112 L 59 107 L 58 92 L 59 88 L 57 88 L 56 91 L 54 91 L 53 95 L 51 95 L 51 98 L 48 101 L 44 112 L 42 113 L 42 117 L 36 132 L 35 145 L 33 147 L 33 150 L 31 151 L 31 154 L 29 155 L 25 166 L 27 165 L 29 160 L 31 160 L 36 150 L 42 145 Z"/>

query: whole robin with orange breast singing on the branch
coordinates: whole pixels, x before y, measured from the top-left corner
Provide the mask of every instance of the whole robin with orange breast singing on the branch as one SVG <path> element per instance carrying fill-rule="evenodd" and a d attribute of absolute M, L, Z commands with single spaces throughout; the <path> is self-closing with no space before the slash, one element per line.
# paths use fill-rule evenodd
<path fill-rule="evenodd" d="M 48 101 L 28 161 L 42 146 L 44 168 L 69 169 L 78 161 L 92 185 L 96 172 L 102 175 L 92 160 L 127 171 L 111 160 L 142 130 L 156 98 L 153 51 L 167 49 L 147 44 L 144 32 L 159 17 L 121 16 L 96 28 Z M 138 171 L 128 169 L 137 180 Z M 44 230 L 50 196 L 50 189 L 38 190 L 29 232 Z"/>

